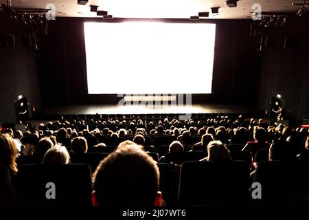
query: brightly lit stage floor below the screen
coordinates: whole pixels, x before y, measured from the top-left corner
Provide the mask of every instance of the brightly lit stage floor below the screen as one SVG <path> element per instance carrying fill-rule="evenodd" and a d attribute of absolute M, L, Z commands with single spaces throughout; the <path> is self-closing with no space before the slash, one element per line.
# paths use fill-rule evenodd
<path fill-rule="evenodd" d="M 48 107 L 41 113 L 45 115 L 80 115 L 80 114 L 160 114 L 160 113 L 259 113 L 253 107 L 227 104 L 192 104 L 192 105 L 70 105 L 65 107 Z"/>

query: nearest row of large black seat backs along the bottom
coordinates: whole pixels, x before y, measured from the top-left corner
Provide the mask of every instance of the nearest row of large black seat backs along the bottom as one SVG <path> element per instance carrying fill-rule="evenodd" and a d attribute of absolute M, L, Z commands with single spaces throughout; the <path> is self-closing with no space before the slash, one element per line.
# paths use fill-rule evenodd
<path fill-rule="evenodd" d="M 159 163 L 158 166 L 160 190 L 168 200 L 173 188 L 172 171 L 168 164 Z M 0 166 L 0 171 L 2 175 L 5 168 Z M 304 199 L 309 195 L 308 173 L 309 161 L 260 163 L 254 178 L 262 186 L 260 202 L 271 204 L 274 201 L 306 201 Z M 19 196 L 24 205 L 91 206 L 91 169 L 86 164 L 23 165 L 17 179 Z M 2 181 L 1 178 L 1 190 L 5 186 Z M 51 199 L 53 192 L 49 190 L 53 187 L 55 197 Z M 222 206 L 241 205 L 251 201 L 249 170 L 245 162 L 184 162 L 181 166 L 179 204 Z"/>

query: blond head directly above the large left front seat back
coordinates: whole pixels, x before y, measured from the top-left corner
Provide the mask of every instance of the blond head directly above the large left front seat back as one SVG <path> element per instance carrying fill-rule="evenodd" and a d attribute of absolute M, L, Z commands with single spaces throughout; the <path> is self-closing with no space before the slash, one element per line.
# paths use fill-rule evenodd
<path fill-rule="evenodd" d="M 70 155 L 65 146 L 55 145 L 45 153 L 42 164 L 62 165 L 69 164 Z"/>

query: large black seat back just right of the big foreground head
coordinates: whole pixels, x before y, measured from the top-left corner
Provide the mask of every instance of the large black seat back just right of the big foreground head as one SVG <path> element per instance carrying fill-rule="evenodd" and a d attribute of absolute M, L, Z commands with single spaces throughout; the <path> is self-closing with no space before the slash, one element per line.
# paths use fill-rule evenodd
<path fill-rule="evenodd" d="M 179 203 L 220 206 L 249 198 L 249 170 L 243 161 L 184 162 L 179 181 Z"/>

